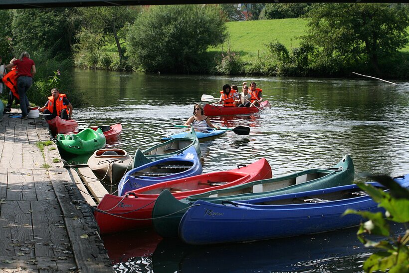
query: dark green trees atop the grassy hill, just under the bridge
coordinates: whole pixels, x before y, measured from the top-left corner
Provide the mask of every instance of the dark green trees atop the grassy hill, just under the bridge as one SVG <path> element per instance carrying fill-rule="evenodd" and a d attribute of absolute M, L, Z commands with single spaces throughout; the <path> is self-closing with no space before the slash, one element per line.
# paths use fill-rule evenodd
<path fill-rule="evenodd" d="M 307 13 L 311 3 L 267 3 L 259 19 L 298 18 Z"/>

